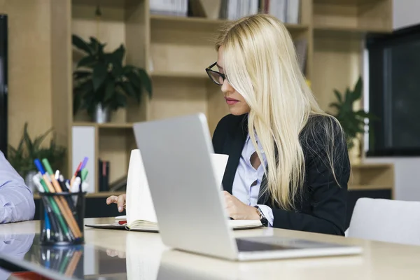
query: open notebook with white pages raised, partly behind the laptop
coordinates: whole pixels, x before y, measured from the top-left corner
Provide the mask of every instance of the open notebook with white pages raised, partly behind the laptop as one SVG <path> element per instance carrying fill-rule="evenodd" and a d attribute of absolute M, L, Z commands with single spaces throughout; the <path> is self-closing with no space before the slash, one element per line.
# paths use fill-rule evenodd
<path fill-rule="evenodd" d="M 228 163 L 228 155 L 212 154 L 211 160 L 214 166 L 214 176 L 218 188 L 222 186 L 223 174 Z M 86 225 L 91 228 L 122 229 L 144 232 L 158 232 L 158 220 L 155 214 L 155 207 L 148 186 L 146 172 L 139 149 L 132 150 L 130 165 L 127 176 L 127 201 L 126 216 L 116 217 L 116 223 Z M 126 218 L 127 223 L 120 224 Z M 233 230 L 250 229 L 261 227 L 258 220 L 229 220 L 228 223 Z"/>

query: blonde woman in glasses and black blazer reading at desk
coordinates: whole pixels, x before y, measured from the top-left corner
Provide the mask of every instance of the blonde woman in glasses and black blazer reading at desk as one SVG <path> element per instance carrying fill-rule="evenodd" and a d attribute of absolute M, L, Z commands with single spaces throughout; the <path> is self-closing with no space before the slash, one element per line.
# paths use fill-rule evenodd
<path fill-rule="evenodd" d="M 216 50 L 206 71 L 230 110 L 213 137 L 215 153 L 229 155 L 223 188 L 230 217 L 344 235 L 344 133 L 316 103 L 286 27 L 270 15 L 242 18 L 221 31 Z M 121 207 L 125 197 L 107 203 L 117 200 Z"/>

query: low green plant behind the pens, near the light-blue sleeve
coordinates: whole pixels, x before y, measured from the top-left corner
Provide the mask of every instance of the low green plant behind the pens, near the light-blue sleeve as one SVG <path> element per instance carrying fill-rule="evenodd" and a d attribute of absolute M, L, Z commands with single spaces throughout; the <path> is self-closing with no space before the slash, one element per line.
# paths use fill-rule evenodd
<path fill-rule="evenodd" d="M 34 191 L 34 183 L 32 177 L 37 173 L 34 160 L 39 158 L 47 158 L 52 168 L 62 171 L 66 156 L 66 148 L 57 145 L 55 136 L 51 138 L 50 145 L 42 145 L 45 137 L 52 132 L 47 130 L 43 134 L 31 139 L 28 133 L 28 124 L 25 123 L 22 137 L 18 146 L 8 146 L 8 161 L 16 171 L 25 179 L 25 183 L 32 191 Z"/>

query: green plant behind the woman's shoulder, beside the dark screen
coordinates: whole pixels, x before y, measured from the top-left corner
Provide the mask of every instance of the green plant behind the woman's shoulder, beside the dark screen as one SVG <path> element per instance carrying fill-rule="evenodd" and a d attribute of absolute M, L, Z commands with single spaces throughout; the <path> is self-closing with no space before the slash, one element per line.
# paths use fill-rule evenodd
<path fill-rule="evenodd" d="M 349 151 L 353 149 L 355 144 L 359 144 L 358 147 L 360 148 L 360 151 L 362 151 L 360 136 L 365 133 L 365 120 L 374 120 L 376 118 L 374 115 L 365 112 L 363 109 L 354 109 L 354 102 L 360 100 L 362 97 L 362 87 L 362 78 L 359 77 L 356 85 L 353 87 L 353 90 L 346 87 L 346 92 L 342 94 L 335 89 L 334 94 L 337 101 L 330 103 L 330 107 L 337 109 L 337 113 L 331 115 L 335 116 L 342 125 L 346 135 L 347 148 Z"/>

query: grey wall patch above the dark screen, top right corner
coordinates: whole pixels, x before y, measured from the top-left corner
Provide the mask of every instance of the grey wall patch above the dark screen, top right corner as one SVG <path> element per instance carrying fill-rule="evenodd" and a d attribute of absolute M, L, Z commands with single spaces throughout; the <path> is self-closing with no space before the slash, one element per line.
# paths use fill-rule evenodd
<path fill-rule="evenodd" d="M 419 0 L 393 0 L 393 29 L 420 24 Z"/>

